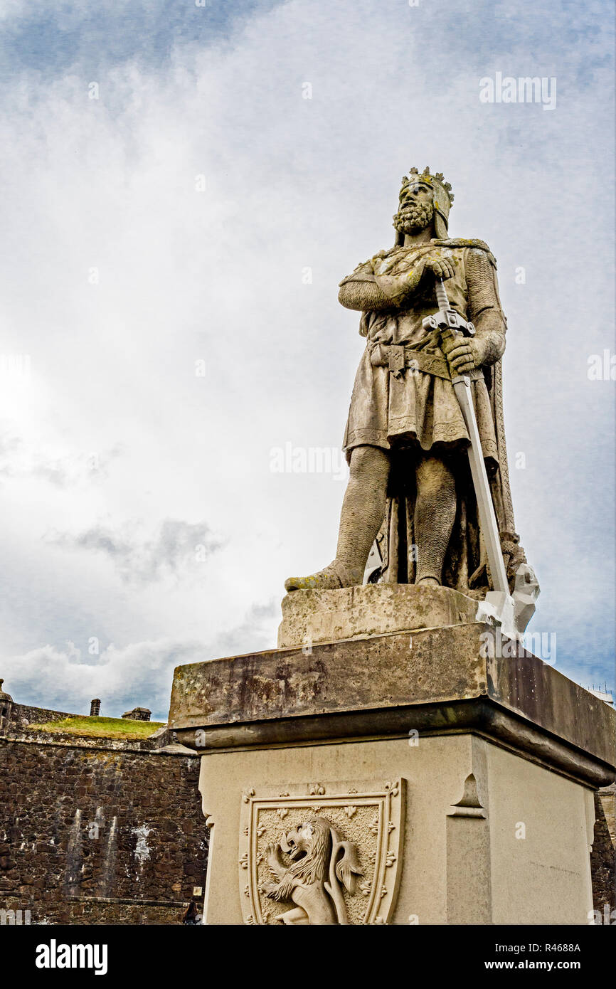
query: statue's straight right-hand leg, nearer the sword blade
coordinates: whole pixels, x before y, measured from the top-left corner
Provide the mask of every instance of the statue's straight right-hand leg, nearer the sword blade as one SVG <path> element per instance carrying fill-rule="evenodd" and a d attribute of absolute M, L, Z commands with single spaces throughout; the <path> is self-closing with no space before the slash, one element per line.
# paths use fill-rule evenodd
<path fill-rule="evenodd" d="M 415 584 L 441 584 L 445 554 L 456 518 L 456 481 L 449 466 L 422 454 L 415 467 Z"/>

